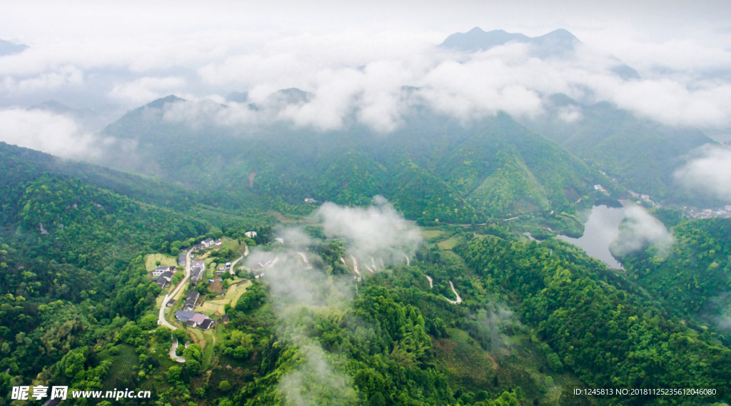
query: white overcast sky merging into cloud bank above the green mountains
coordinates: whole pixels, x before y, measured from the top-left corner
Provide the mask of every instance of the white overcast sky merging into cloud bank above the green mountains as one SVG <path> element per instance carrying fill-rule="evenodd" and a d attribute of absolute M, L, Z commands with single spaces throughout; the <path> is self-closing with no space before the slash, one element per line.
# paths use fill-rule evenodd
<path fill-rule="evenodd" d="M 315 98 L 280 118 L 333 129 L 355 112 L 391 131 L 409 85 L 460 118 L 540 115 L 545 96 L 561 92 L 674 126 L 731 126 L 731 2 L 594 3 L 16 1 L 4 4 L 0 39 L 31 48 L 0 57 L 0 108 L 17 128 L 34 122 L 12 121 L 19 109 L 50 99 L 111 119 L 173 93 L 223 102 L 249 91 L 261 102 L 297 87 Z M 584 45 L 572 61 L 540 61 L 520 45 L 435 50 L 475 26 L 531 37 L 566 28 Z M 642 79 L 618 80 L 613 56 Z"/>

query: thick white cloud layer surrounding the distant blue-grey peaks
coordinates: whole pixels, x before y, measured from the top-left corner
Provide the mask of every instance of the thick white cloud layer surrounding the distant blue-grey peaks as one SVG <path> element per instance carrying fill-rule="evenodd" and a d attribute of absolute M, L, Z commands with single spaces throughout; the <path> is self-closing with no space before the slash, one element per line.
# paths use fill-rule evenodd
<path fill-rule="evenodd" d="M 22 16 L 23 7 L 17 8 L 14 15 Z M 311 99 L 275 109 L 276 114 L 269 118 L 325 130 L 340 128 L 355 118 L 387 132 L 398 128 L 415 104 L 463 120 L 498 111 L 533 117 L 544 112 L 550 94 L 566 93 L 582 102 L 607 100 L 674 126 L 731 124 L 731 77 L 727 74 L 731 33 L 707 26 L 700 27 L 711 31 L 658 41 L 637 31 L 643 27 L 596 21 L 594 28 L 569 25 L 565 28 L 584 44 L 565 57 L 537 58 L 529 45 L 521 43 L 476 53 L 436 45 L 447 35 L 474 25 L 488 31 L 504 28 L 540 35 L 559 28 L 555 24 L 532 28 L 515 20 L 505 22 L 507 26 L 496 26 L 495 21 L 472 24 L 462 22 L 465 17 L 461 15 L 460 23 L 439 30 L 406 27 L 393 20 L 394 25 L 386 28 L 346 29 L 335 23 L 341 18 L 325 13 L 330 19 L 322 20 L 322 26 L 298 31 L 304 28 L 286 24 L 273 28 L 286 20 L 281 9 L 276 12 L 279 20 L 246 24 L 240 18 L 232 19 L 233 14 L 221 15 L 221 10 L 192 11 L 196 7 L 189 6 L 170 15 L 165 7 L 154 8 L 169 19 L 170 32 L 159 32 L 159 21 L 154 28 L 145 26 L 151 22 L 140 23 L 135 12 L 119 15 L 137 23 L 139 29 L 134 33 L 129 32 L 129 21 L 113 20 L 107 22 L 110 29 L 103 30 L 105 35 L 98 31 L 80 34 L 91 30 L 90 25 L 67 27 L 66 37 L 58 37 L 54 31 L 46 37 L 35 34 L 34 40 L 22 39 L 31 47 L 2 57 L 0 63 L 0 106 L 60 99 L 75 102 L 75 107 L 114 104 L 129 109 L 171 93 L 221 102 L 231 91 L 248 91 L 250 102 L 263 106 L 273 92 L 300 88 L 311 93 Z M 56 9 L 59 12 L 69 10 Z M 241 18 L 257 20 L 253 10 L 238 12 Z M 26 16 L 29 23 L 40 21 L 35 9 L 33 16 Z M 398 20 L 398 16 L 392 17 Z M 57 16 L 47 18 L 56 20 Z M 501 20 L 497 15 L 493 18 Z M 186 23 L 175 24 L 177 20 Z M 193 20 L 197 23 L 192 24 Z M 230 26 L 219 28 L 224 20 Z M 303 19 L 298 16 L 295 20 Z M 17 26 L 12 20 L 6 23 Z M 35 30 L 42 32 L 45 27 Z M 636 68 L 639 77 L 620 77 L 616 67 L 621 61 L 613 55 Z M 257 115 L 236 108 L 221 114 L 222 123 L 250 123 Z M 567 121 L 580 117 L 580 111 L 561 112 Z"/>

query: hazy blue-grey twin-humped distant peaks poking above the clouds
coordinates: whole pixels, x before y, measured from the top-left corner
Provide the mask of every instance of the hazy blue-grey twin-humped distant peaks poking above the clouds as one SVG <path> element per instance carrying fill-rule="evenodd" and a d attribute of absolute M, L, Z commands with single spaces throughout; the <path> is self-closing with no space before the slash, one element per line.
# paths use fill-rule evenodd
<path fill-rule="evenodd" d="M 540 58 L 567 56 L 573 52 L 575 45 L 580 44 L 574 34 L 563 28 L 531 38 L 520 33 L 510 33 L 504 30 L 483 31 L 482 28 L 475 27 L 466 33 L 458 32 L 450 35 L 439 47 L 477 52 L 505 45 L 508 42 L 529 43 L 534 46 L 534 53 Z"/>

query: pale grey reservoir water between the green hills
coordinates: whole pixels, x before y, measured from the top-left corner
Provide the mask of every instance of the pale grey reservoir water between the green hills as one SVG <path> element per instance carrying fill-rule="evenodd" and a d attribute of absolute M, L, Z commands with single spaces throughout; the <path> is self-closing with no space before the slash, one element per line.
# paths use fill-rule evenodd
<path fill-rule="evenodd" d="M 571 238 L 559 235 L 558 238 L 577 245 L 588 255 L 604 261 L 610 268 L 621 269 L 622 264 L 609 252 L 609 245 L 619 236 L 619 223 L 624 217 L 624 207 L 594 206 L 584 227 L 583 236 Z"/>

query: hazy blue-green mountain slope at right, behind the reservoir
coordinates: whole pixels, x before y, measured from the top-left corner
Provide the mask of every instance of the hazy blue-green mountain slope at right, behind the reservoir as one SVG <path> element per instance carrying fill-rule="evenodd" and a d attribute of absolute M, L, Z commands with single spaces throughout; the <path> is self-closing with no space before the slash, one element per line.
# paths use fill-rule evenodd
<path fill-rule="evenodd" d="M 678 185 L 673 173 L 694 148 L 713 139 L 697 129 L 664 126 L 638 118 L 609 102 L 583 105 L 564 95 L 552 97 L 545 118 L 523 124 L 553 139 L 588 166 L 615 177 L 626 188 L 656 202 L 708 204 Z M 575 112 L 572 122 L 561 120 Z"/>

